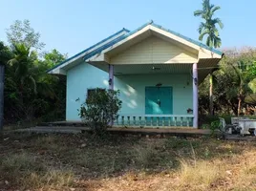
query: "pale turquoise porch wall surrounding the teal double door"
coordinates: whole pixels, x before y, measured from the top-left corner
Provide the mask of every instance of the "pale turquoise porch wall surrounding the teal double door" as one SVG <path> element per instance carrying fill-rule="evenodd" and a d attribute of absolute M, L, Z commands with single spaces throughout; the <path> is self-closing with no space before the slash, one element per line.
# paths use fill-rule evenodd
<path fill-rule="evenodd" d="M 173 114 L 186 115 L 192 108 L 192 84 L 189 74 L 117 75 L 115 88 L 120 90 L 120 114 L 145 114 L 145 86 L 173 87 Z M 189 85 L 187 82 L 189 81 Z"/>

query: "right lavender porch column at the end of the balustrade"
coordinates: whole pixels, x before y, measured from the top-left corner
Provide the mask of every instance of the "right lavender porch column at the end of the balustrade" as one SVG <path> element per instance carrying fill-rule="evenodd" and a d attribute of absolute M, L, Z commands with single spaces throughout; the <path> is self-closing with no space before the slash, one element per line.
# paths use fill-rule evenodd
<path fill-rule="evenodd" d="M 198 63 L 193 64 L 193 127 L 199 125 Z"/>

